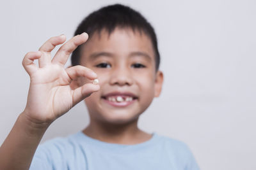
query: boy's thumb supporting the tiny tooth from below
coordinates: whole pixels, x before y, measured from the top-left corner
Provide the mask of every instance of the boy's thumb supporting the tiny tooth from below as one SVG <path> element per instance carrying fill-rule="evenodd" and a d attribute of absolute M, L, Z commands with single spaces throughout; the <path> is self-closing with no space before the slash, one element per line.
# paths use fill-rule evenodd
<path fill-rule="evenodd" d="M 93 83 L 86 83 L 81 87 L 78 87 L 73 91 L 73 106 L 80 101 L 82 101 L 84 98 L 90 96 L 93 92 L 97 92 L 100 90 L 99 85 L 95 85 Z"/>

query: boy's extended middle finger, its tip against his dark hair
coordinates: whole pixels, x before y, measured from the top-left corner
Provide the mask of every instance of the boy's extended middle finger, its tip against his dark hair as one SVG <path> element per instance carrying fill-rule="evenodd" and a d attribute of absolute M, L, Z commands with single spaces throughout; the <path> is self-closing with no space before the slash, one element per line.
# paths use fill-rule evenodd
<path fill-rule="evenodd" d="M 85 43 L 87 39 L 88 34 L 86 34 L 85 32 L 71 38 L 69 41 L 67 41 L 67 43 L 61 46 L 61 48 L 52 59 L 52 63 L 65 65 L 70 53 L 72 53 L 77 48 L 77 46 Z"/>

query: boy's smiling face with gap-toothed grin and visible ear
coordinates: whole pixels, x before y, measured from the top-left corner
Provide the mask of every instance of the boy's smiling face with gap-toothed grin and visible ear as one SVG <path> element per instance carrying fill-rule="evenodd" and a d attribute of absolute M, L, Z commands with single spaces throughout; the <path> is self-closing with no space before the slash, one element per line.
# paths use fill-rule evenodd
<path fill-rule="evenodd" d="M 115 29 L 95 32 L 81 49 L 81 65 L 98 75 L 100 90 L 84 99 L 91 121 L 125 124 L 136 120 L 159 96 L 163 73 L 156 72 L 147 35 Z M 80 79 L 79 85 L 86 83 Z"/>

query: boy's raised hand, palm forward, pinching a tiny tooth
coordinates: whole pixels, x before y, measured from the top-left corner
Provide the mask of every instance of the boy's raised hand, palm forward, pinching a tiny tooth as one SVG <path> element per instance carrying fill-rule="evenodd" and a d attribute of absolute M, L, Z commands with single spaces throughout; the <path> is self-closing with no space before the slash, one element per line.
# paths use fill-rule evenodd
<path fill-rule="evenodd" d="M 91 80 L 97 78 L 91 69 L 83 66 L 68 67 L 63 66 L 78 45 L 88 39 L 88 34 L 83 33 L 74 36 L 58 50 L 51 60 L 51 51 L 56 45 L 65 42 L 65 36 L 50 38 L 39 49 L 39 52 L 29 52 L 22 61 L 22 65 L 30 76 L 30 86 L 28 101 L 24 114 L 33 123 L 51 123 L 56 118 L 65 114 L 75 104 L 92 92 L 100 89 L 99 85 L 86 83 L 77 89 L 72 90 L 70 83 L 79 76 Z M 38 59 L 39 67 L 33 63 Z"/>

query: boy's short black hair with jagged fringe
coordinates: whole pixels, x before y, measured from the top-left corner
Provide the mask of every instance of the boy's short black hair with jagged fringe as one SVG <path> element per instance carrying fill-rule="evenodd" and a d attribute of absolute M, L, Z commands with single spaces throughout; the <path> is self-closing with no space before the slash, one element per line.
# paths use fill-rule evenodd
<path fill-rule="evenodd" d="M 132 31 L 142 31 L 152 41 L 156 59 L 156 71 L 159 69 L 160 55 L 157 48 L 157 37 L 154 28 L 138 11 L 132 10 L 128 6 L 122 4 L 113 4 L 93 11 L 78 25 L 74 36 L 87 32 L 92 36 L 95 32 L 102 30 L 108 31 L 109 35 L 119 28 L 131 28 Z M 72 53 L 71 63 L 72 66 L 80 64 L 80 50 L 78 46 Z"/>

